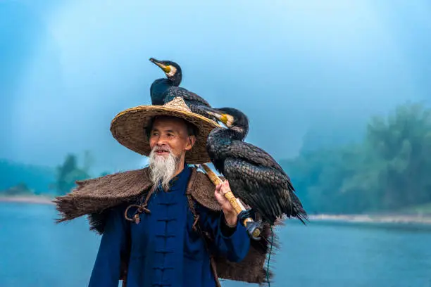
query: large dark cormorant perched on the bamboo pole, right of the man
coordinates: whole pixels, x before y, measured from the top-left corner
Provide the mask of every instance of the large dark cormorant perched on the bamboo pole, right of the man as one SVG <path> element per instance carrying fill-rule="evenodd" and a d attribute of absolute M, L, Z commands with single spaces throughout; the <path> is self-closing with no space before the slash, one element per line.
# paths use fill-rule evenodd
<path fill-rule="evenodd" d="M 213 129 L 206 150 L 215 169 L 229 181 L 232 193 L 258 212 L 263 222 L 273 225 L 286 215 L 305 224 L 308 215 L 289 176 L 266 151 L 244 141 L 249 132 L 246 115 L 235 108 L 217 108 L 208 113 L 227 127 Z"/>

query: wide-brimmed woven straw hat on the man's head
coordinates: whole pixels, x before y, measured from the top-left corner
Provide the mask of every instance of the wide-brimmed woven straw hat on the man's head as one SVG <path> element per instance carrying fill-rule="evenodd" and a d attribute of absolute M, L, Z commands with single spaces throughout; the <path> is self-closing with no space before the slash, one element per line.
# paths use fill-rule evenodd
<path fill-rule="evenodd" d="M 165 103 L 163 106 L 137 106 L 118 113 L 111 122 L 111 133 L 126 148 L 149 156 L 151 148 L 145 128 L 151 118 L 156 115 L 180 117 L 195 125 L 198 129 L 196 142 L 193 148 L 187 151 L 185 160 L 188 164 L 211 162 L 206 152 L 206 139 L 211 130 L 215 127 L 220 127 L 220 125 L 202 115 L 192 113 L 185 101 L 179 97 Z"/>

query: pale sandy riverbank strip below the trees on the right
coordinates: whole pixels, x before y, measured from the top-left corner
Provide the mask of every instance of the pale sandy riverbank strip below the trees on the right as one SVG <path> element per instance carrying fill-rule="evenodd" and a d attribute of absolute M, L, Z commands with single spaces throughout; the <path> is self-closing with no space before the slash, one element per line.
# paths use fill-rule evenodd
<path fill-rule="evenodd" d="M 431 224 L 431 215 L 310 215 L 310 221 Z"/>

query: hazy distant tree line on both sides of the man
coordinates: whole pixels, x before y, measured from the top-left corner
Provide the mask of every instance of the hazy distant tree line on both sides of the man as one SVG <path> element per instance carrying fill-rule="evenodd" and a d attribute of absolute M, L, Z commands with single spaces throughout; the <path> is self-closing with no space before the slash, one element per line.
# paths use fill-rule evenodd
<path fill-rule="evenodd" d="M 358 213 L 431 203 L 430 108 L 407 103 L 387 117 L 373 117 L 356 144 L 319 148 L 316 137 L 308 138 L 316 142 L 304 145 L 313 148 L 280 161 L 308 212 Z M 66 155 L 56 170 L 0 160 L 0 196 L 63 195 L 75 181 L 93 176 L 92 162 L 89 152 L 81 165 L 77 155 Z"/>

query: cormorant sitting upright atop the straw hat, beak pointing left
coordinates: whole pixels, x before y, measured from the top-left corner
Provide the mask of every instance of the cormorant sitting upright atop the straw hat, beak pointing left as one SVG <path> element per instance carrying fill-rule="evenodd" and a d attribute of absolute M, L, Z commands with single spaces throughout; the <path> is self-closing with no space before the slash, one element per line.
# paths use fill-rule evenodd
<path fill-rule="evenodd" d="M 194 94 L 192 91 L 179 87 L 182 80 L 180 65 L 170 60 L 156 60 L 155 58 L 150 58 L 149 60 L 158 65 L 166 75 L 165 78 L 156 79 L 151 84 L 150 94 L 152 105 L 163 106 L 164 103 L 168 103 L 173 98 L 180 96 L 193 113 L 215 120 L 214 117 L 206 113 L 211 106 L 204 98 Z"/>

